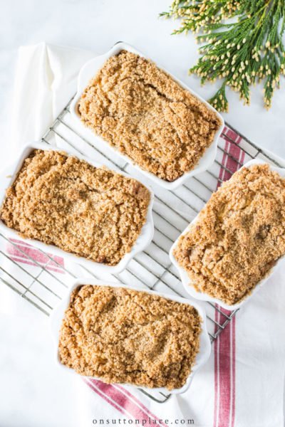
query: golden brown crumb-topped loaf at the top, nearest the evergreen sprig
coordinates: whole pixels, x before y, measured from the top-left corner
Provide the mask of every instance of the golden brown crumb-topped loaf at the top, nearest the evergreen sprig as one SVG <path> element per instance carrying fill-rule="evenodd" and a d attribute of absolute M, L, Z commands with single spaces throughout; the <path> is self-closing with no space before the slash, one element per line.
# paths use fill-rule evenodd
<path fill-rule="evenodd" d="M 170 75 L 128 51 L 105 62 L 78 109 L 97 135 L 167 181 L 195 167 L 221 125 L 215 112 Z"/>

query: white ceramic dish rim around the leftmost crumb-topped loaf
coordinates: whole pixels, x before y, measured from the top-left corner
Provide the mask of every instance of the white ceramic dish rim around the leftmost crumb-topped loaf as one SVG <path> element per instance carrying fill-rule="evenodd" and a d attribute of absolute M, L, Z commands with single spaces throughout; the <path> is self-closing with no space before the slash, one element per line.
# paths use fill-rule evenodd
<path fill-rule="evenodd" d="M 97 162 L 93 161 L 92 159 L 89 159 L 88 157 L 81 156 L 79 154 L 73 154 L 71 152 L 66 152 L 66 150 L 62 149 L 56 149 L 55 147 L 49 147 L 47 144 L 43 144 L 42 142 L 35 142 L 28 144 L 26 147 L 24 147 L 23 151 L 19 155 L 19 159 L 17 160 L 16 164 L 9 169 L 9 171 L 5 171 L 5 173 L 0 176 L 0 206 L 3 204 L 3 201 L 6 196 L 6 189 L 13 184 L 14 180 L 16 179 L 16 176 L 21 169 L 21 166 L 24 162 L 24 160 L 28 157 L 28 155 L 33 151 L 33 149 L 44 149 L 48 151 L 64 151 L 66 154 L 77 157 L 78 159 L 86 160 L 89 164 L 92 164 L 94 167 L 102 167 L 103 164 L 98 164 Z M 110 169 L 110 168 L 108 168 Z M 124 174 L 123 172 L 119 172 L 123 176 L 128 176 L 128 174 Z M 95 263 L 95 261 L 88 260 L 86 258 L 74 255 L 73 253 L 68 253 L 66 251 L 63 251 L 60 248 L 57 248 L 53 245 L 46 245 L 46 243 L 42 243 L 40 241 L 26 238 L 25 241 L 28 243 L 31 243 L 31 245 L 36 246 L 40 248 L 42 251 L 53 253 L 55 255 L 61 256 L 63 258 L 66 258 L 68 260 L 71 260 L 73 263 L 81 263 L 82 265 L 85 265 L 87 268 L 89 267 L 95 267 L 98 273 L 120 273 L 120 271 L 124 270 L 124 268 L 128 265 L 130 260 L 140 251 L 143 251 L 152 241 L 153 233 L 154 233 L 154 226 L 153 226 L 153 219 L 152 219 L 152 205 L 154 200 L 154 194 L 153 191 L 148 188 L 150 191 L 150 205 L 148 206 L 147 210 L 147 220 L 145 222 L 145 225 L 142 226 L 142 231 L 140 233 L 140 236 L 138 236 L 138 239 L 135 241 L 135 244 L 133 245 L 132 250 L 129 253 L 126 253 L 125 256 L 120 260 L 120 263 L 117 265 L 104 265 L 101 263 Z M 5 233 L 8 236 L 19 238 L 19 233 L 15 230 L 12 230 L 11 228 L 7 227 L 3 221 L 0 219 L 0 230 Z"/>

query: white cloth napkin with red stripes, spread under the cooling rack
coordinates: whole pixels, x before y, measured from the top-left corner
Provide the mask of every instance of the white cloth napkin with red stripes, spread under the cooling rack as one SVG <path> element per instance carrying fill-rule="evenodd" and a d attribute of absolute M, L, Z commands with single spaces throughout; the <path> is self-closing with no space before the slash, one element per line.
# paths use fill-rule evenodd
<path fill-rule="evenodd" d="M 46 132 L 76 92 L 81 65 L 93 55 L 46 43 L 19 49 L 11 117 L 15 154 Z M 107 386 L 78 376 L 78 425 L 99 426 L 103 419 L 103 425 L 116 420 L 145 426 L 283 426 L 284 281 L 284 269 L 279 268 L 217 339 L 190 389 L 165 404 L 132 387 Z"/>

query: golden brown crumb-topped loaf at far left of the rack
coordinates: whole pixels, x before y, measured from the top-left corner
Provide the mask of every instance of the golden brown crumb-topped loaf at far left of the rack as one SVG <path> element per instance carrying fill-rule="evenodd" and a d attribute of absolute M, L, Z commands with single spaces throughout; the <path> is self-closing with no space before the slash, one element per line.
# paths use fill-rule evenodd
<path fill-rule="evenodd" d="M 135 179 L 36 149 L 6 191 L 0 215 L 24 237 L 116 265 L 140 235 L 149 203 L 150 192 Z"/>

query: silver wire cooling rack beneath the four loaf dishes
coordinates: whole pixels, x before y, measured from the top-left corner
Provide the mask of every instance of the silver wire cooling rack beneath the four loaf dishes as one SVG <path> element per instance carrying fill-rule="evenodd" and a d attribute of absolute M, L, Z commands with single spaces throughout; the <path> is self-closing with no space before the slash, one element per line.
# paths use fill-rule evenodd
<path fill-rule="evenodd" d="M 72 100 L 71 100 L 72 101 Z M 130 164 L 122 160 L 110 149 L 98 142 L 90 142 L 88 132 L 78 128 L 73 123 L 70 104 L 58 115 L 53 125 L 42 138 L 42 142 L 51 144 L 56 137 L 56 143 L 63 149 L 79 152 L 90 157 L 96 157 L 98 162 L 103 162 L 113 169 L 131 172 L 138 175 Z M 227 125 L 229 130 L 239 136 L 237 141 L 232 139 L 229 132 L 223 132 L 219 139 L 217 158 L 207 172 L 190 178 L 187 184 L 175 191 L 167 191 L 155 187 L 155 204 L 153 216 L 155 221 L 155 236 L 150 246 L 138 254 L 122 273 L 115 275 L 115 279 L 127 285 L 140 285 L 150 289 L 174 292 L 176 295 L 185 296 L 185 291 L 180 283 L 177 271 L 170 263 L 168 251 L 172 242 L 187 226 L 199 210 L 206 203 L 209 196 L 217 189 L 218 185 L 232 175 L 233 171 L 222 162 L 223 156 L 227 156 L 239 169 L 242 163 L 254 158 L 266 159 L 267 162 L 278 164 L 266 152 L 242 137 L 236 130 Z M 87 136 L 86 136 L 87 135 Z M 225 144 L 238 147 L 239 156 L 225 149 Z M 242 152 L 242 156 L 240 153 Z M 242 159 L 242 160 L 241 160 Z M 222 171 L 222 174 L 221 174 Z M 140 179 L 143 177 L 138 175 Z M 143 179 L 142 179 L 143 180 Z M 178 209 L 177 209 L 178 206 Z M 21 241 L 9 239 L 0 233 L 0 279 L 16 291 L 21 297 L 37 307 L 46 315 L 50 315 L 61 297 L 65 295 L 70 281 L 78 276 L 97 278 L 95 271 L 91 271 L 82 265 L 68 265 L 61 258 L 44 253 L 39 249 Z M 3 249 L 5 247 L 5 249 Z M 36 272 L 36 273 L 35 273 Z M 209 302 L 201 302 L 207 312 L 207 327 L 212 341 L 222 333 L 227 324 L 236 315 L 234 312 L 221 310 L 217 305 Z M 220 320 L 217 322 L 215 313 L 219 312 Z M 146 392 L 141 390 L 157 402 L 165 402 L 170 394 L 160 392 Z"/>

